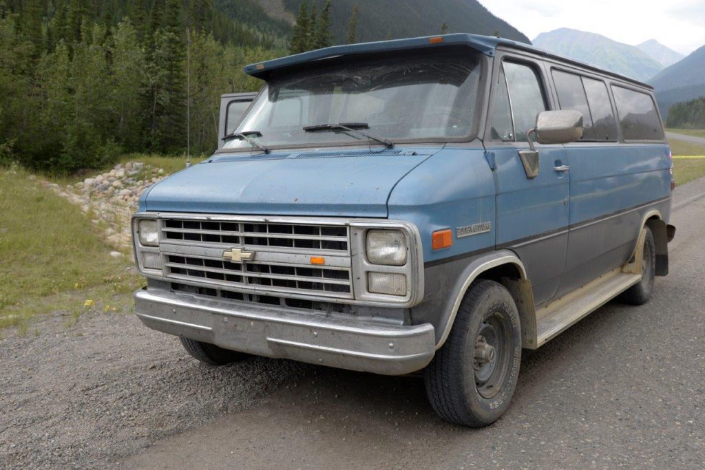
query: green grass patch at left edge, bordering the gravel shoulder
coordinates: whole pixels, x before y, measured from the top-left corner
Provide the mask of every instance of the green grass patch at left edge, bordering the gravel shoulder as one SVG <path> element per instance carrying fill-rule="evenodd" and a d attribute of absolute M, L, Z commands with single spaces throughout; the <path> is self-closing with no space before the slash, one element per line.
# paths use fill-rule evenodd
<path fill-rule="evenodd" d="M 0 168 L 0 328 L 20 325 L 21 332 L 40 313 L 78 315 L 116 296 L 129 301 L 141 283 L 128 273 L 131 254 L 110 256 L 78 206 L 27 175 Z"/>

